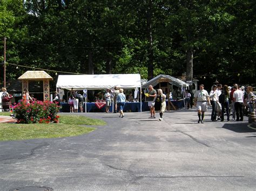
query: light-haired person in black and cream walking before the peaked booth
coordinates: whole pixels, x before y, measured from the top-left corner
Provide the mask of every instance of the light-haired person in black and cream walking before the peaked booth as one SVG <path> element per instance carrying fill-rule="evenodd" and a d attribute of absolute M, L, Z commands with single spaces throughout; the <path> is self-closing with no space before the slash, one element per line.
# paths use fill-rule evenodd
<path fill-rule="evenodd" d="M 152 101 L 152 104 L 154 105 L 154 110 L 159 111 L 160 118 L 159 121 L 163 121 L 163 113 L 165 112 L 166 108 L 166 95 L 163 94 L 163 90 L 159 89 L 157 91 L 157 96 L 154 97 L 154 100 Z"/>

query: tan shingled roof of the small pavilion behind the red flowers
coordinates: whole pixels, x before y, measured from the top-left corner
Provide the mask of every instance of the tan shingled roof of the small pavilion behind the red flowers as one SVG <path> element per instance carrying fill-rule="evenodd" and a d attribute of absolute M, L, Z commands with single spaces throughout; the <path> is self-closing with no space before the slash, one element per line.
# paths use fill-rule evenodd
<path fill-rule="evenodd" d="M 53 80 L 53 78 L 46 73 L 45 71 L 26 71 L 22 76 L 18 78 L 18 80 L 44 80 L 49 79 Z"/>

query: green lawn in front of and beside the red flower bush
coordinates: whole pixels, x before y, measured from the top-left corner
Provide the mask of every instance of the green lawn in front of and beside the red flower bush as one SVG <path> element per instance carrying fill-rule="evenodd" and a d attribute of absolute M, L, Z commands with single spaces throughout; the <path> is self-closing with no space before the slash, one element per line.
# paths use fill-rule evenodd
<path fill-rule="evenodd" d="M 3 112 L 0 112 L 0 115 Z M 102 120 L 83 116 L 61 115 L 59 124 L 0 124 L 0 141 L 39 138 L 72 137 L 94 131 L 95 127 L 84 125 L 105 125 Z"/>

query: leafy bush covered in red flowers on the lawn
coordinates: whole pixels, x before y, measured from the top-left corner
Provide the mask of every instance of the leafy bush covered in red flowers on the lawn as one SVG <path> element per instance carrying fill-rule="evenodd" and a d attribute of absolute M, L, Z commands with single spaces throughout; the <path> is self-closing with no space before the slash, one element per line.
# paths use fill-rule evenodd
<path fill-rule="evenodd" d="M 33 101 L 31 104 L 23 101 L 12 108 L 19 124 L 59 122 L 59 106 L 51 101 Z"/>

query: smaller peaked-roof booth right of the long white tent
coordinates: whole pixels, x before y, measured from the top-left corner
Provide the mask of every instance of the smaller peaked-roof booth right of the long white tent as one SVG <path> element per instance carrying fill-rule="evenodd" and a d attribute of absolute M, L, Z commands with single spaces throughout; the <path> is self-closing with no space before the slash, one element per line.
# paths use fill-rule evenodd
<path fill-rule="evenodd" d="M 177 109 L 176 108 L 177 106 L 178 106 L 178 108 L 185 106 L 184 92 L 185 92 L 186 87 L 189 86 L 189 84 L 185 83 L 184 81 L 182 81 L 178 78 L 160 74 L 157 77 L 154 77 L 153 79 L 147 81 L 147 83 L 142 85 L 142 88 L 148 88 L 149 85 L 152 85 L 153 87 L 158 86 L 158 88 L 161 88 L 163 90 L 163 92 L 165 92 L 167 95 L 169 95 L 169 93 L 170 93 L 170 85 L 169 84 L 175 85 L 181 89 L 182 99 L 180 101 L 179 100 L 170 100 L 170 96 L 167 96 L 168 110 L 170 110 L 170 106 L 172 106 L 174 108 L 174 110 Z M 182 101 L 182 103 L 179 103 L 181 101 Z"/>

